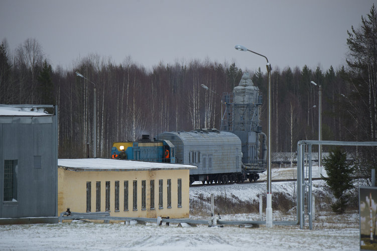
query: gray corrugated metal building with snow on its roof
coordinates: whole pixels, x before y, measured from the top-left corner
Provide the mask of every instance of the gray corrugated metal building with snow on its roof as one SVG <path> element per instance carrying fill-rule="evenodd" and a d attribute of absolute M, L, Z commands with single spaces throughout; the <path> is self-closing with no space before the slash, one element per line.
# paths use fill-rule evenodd
<path fill-rule="evenodd" d="M 57 106 L 0 105 L 0 224 L 58 221 L 57 129 Z"/>

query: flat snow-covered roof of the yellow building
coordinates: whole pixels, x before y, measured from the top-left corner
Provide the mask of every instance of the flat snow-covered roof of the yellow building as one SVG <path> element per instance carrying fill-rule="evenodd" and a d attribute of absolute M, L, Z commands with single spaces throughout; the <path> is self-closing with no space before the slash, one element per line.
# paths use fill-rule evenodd
<path fill-rule="evenodd" d="M 150 171 L 196 169 L 196 166 L 113 159 L 59 159 L 58 167 L 73 171 Z"/>

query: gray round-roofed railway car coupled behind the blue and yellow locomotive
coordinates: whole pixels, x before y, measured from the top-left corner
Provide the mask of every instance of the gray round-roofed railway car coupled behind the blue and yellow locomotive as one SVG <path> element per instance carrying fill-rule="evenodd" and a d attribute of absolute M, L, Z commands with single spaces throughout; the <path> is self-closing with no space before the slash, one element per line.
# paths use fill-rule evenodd
<path fill-rule="evenodd" d="M 190 170 L 190 184 L 243 182 L 247 174 L 242 170 L 240 139 L 230 132 L 198 129 L 191 132 L 167 132 L 157 135 L 175 147 L 178 164 L 195 165 Z"/>

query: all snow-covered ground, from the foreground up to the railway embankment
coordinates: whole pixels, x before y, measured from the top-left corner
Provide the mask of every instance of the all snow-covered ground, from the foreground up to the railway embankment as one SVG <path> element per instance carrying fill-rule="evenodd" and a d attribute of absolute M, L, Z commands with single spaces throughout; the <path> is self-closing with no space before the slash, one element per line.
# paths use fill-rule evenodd
<path fill-rule="evenodd" d="M 316 171 L 313 168 L 313 176 Z M 294 169 L 273 169 L 272 177 L 291 176 L 292 172 Z M 313 182 L 314 192 L 320 189 L 321 182 Z M 272 184 L 273 193 L 291 193 L 293 188 L 292 182 Z M 199 195 L 207 197 L 211 193 L 253 200 L 258 194 L 266 193 L 266 183 L 191 187 L 190 199 Z M 199 215 L 190 215 L 190 218 L 205 219 Z M 296 220 L 296 210 L 286 214 L 274 210 L 273 219 Z M 259 213 L 221 215 L 221 220 L 259 220 Z M 359 250 L 358 222 L 358 212 L 354 211 L 345 215 L 316 212 L 313 230 L 300 229 L 297 225 L 274 225 L 272 228 L 264 225 L 259 228 L 198 225 L 182 228 L 176 224 L 125 225 L 83 221 L 0 225 L 0 250 Z"/>

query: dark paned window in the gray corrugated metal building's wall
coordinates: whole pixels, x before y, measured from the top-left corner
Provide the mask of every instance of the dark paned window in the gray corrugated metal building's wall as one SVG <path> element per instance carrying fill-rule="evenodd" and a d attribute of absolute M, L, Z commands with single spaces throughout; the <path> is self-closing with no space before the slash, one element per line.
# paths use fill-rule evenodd
<path fill-rule="evenodd" d="M 4 161 L 4 201 L 17 201 L 17 160 Z"/>

